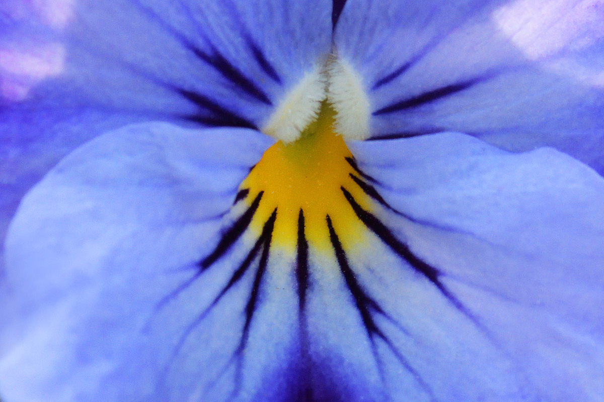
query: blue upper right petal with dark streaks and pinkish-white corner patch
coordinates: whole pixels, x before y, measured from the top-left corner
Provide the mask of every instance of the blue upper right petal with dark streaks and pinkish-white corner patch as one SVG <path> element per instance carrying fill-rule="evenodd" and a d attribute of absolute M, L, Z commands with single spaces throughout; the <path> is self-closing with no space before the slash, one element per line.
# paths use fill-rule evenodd
<path fill-rule="evenodd" d="M 599 1 L 349 0 L 338 53 L 364 78 L 371 135 L 553 146 L 604 173 Z"/>

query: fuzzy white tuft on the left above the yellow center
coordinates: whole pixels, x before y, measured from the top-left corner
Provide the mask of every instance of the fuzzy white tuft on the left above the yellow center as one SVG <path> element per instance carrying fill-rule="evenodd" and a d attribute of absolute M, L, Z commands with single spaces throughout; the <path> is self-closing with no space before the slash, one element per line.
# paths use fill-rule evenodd
<path fill-rule="evenodd" d="M 321 70 L 316 68 L 304 75 L 281 101 L 262 132 L 284 143 L 297 140 L 302 130 L 318 116 L 325 96 L 325 80 Z"/>

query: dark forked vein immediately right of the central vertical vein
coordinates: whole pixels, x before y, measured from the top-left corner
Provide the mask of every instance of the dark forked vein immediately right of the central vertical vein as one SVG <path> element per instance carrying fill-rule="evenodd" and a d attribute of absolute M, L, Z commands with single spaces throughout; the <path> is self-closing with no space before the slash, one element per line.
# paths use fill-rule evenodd
<path fill-rule="evenodd" d="M 361 321 L 363 322 L 365 331 L 367 331 L 367 336 L 371 344 L 371 353 L 373 354 L 373 358 L 376 361 L 377 369 L 380 372 L 382 382 L 385 383 L 385 373 L 384 368 L 382 366 L 382 359 L 377 351 L 376 337 L 382 339 L 382 341 L 392 351 L 397 360 L 399 360 L 400 364 L 408 372 L 410 372 L 411 375 L 413 375 L 413 377 L 416 379 L 417 383 L 423 389 L 423 391 L 425 391 L 426 394 L 428 394 L 429 397 L 431 397 L 431 399 L 434 401 L 434 392 L 429 387 L 428 383 L 423 380 L 419 372 L 417 372 L 411 366 L 410 362 L 408 362 L 408 360 L 405 359 L 404 356 L 402 356 L 402 354 L 397 350 L 397 348 L 394 347 L 394 344 L 392 343 L 392 341 L 390 341 L 388 336 L 386 336 L 384 331 L 382 331 L 381 328 L 377 326 L 376 322 L 373 319 L 373 316 L 371 315 L 372 310 L 376 313 L 379 313 L 380 315 L 385 316 L 387 319 L 391 320 L 391 318 L 387 315 L 387 313 L 384 312 L 384 310 L 382 310 L 379 304 L 377 304 L 376 301 L 373 300 L 373 298 L 369 297 L 367 293 L 362 289 L 358 280 L 356 280 L 352 268 L 350 268 L 348 258 L 346 257 L 344 248 L 342 248 L 342 244 L 339 240 L 338 234 L 336 234 L 336 231 L 333 228 L 332 220 L 329 215 L 327 215 L 326 221 L 327 228 L 329 229 L 329 239 L 332 243 L 332 247 L 336 255 L 336 260 L 338 261 L 338 265 L 340 267 L 340 271 L 342 272 L 342 276 L 344 277 L 346 286 L 348 287 L 350 294 L 352 295 L 355 301 L 356 309 L 358 310 L 359 315 L 361 316 Z"/>

